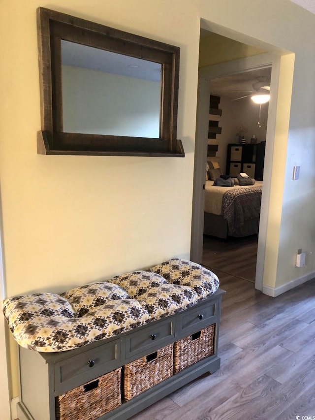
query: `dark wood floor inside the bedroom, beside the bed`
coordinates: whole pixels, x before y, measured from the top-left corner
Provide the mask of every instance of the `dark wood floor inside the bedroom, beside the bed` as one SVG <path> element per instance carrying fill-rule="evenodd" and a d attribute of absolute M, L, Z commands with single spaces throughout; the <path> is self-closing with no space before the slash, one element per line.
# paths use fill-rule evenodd
<path fill-rule="evenodd" d="M 202 264 L 255 283 L 258 236 L 220 239 L 204 235 Z"/>

